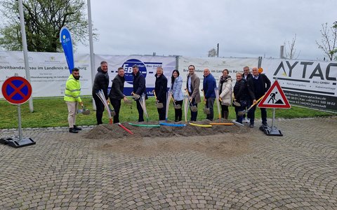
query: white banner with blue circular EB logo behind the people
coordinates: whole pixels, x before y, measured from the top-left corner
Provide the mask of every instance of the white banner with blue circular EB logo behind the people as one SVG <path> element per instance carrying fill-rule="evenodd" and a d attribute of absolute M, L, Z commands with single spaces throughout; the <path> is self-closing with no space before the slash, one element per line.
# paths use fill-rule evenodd
<path fill-rule="evenodd" d="M 108 64 L 108 72 L 110 78 L 109 90 L 112 85 L 112 80 L 117 75 L 119 67 L 124 68 L 125 84 L 124 94 L 131 95 L 133 87 L 132 66 L 138 65 L 139 71 L 143 73 L 146 80 L 147 95 L 152 96 L 154 83 L 156 81 L 155 74 L 157 67 L 161 66 L 164 69 L 164 75 L 168 80 L 168 87 L 171 80 L 171 73 L 176 69 L 176 57 L 164 56 L 142 56 L 142 55 L 95 55 L 95 66 L 98 68 L 100 62 L 106 61 Z"/>

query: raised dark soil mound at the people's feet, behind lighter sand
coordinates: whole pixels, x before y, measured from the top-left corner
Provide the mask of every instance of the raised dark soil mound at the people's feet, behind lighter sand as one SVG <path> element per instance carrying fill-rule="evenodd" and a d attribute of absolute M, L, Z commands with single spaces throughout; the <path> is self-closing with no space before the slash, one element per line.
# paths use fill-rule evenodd
<path fill-rule="evenodd" d="M 175 123 L 169 121 L 171 124 L 184 124 L 184 122 Z M 232 123 L 229 120 L 202 120 L 194 122 L 199 125 L 209 125 L 209 123 Z M 124 137 L 193 137 L 206 136 L 223 133 L 245 133 L 246 127 L 239 125 L 213 125 L 212 127 L 198 127 L 194 125 L 186 125 L 184 127 L 171 127 L 161 125 L 160 127 L 138 127 L 129 125 L 128 123 L 121 123 L 128 130 L 133 132 L 133 135 L 123 130 L 117 124 L 98 125 L 90 130 L 84 138 L 86 139 L 120 139 Z M 159 125 L 158 121 L 135 123 L 137 125 Z"/>

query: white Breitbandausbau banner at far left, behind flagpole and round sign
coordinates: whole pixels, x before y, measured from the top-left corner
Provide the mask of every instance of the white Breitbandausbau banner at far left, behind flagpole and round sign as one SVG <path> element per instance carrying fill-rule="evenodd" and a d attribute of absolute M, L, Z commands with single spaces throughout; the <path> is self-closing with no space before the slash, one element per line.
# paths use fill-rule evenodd
<path fill-rule="evenodd" d="M 28 52 L 28 58 L 32 97 L 62 97 L 70 75 L 64 53 Z M 81 94 L 91 94 L 89 56 L 75 55 L 75 66 L 80 70 Z M 23 52 L 0 51 L 0 87 L 11 76 L 26 77 Z"/>

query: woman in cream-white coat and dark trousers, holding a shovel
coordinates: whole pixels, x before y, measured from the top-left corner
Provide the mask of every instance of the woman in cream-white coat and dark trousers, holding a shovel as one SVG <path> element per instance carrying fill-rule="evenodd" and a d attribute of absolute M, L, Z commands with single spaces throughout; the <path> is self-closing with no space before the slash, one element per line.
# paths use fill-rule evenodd
<path fill-rule="evenodd" d="M 232 103 L 232 78 L 228 69 L 223 69 L 219 80 L 219 97 L 221 98 L 221 118 L 228 119 L 230 114 L 228 106 Z"/>

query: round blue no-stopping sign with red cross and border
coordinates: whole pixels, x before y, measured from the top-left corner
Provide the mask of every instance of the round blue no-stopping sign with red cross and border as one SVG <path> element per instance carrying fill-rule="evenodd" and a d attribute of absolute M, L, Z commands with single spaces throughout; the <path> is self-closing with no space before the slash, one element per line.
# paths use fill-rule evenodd
<path fill-rule="evenodd" d="M 32 96 L 32 85 L 20 76 L 6 79 L 1 90 L 4 98 L 11 104 L 23 104 Z"/>

